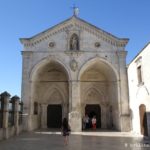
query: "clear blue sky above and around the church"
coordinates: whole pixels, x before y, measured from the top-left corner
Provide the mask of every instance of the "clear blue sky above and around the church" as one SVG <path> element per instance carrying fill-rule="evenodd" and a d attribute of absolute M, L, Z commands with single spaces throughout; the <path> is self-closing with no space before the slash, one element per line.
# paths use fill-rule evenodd
<path fill-rule="evenodd" d="M 150 41 L 150 0 L 0 0 L 0 93 L 21 96 L 22 45 L 72 16 L 120 38 L 129 38 L 127 63 Z"/>

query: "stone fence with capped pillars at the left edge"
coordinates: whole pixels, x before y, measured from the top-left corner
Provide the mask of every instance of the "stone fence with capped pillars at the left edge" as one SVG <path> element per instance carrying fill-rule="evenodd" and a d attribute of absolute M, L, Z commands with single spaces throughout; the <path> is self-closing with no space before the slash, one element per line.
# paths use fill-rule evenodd
<path fill-rule="evenodd" d="M 0 94 L 0 140 L 22 132 L 23 104 L 18 96 L 10 96 L 7 92 Z"/>

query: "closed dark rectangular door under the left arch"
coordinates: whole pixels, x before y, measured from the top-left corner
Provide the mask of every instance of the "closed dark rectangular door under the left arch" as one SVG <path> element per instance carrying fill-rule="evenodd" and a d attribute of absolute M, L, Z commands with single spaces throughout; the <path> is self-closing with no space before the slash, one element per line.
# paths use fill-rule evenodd
<path fill-rule="evenodd" d="M 61 105 L 48 105 L 47 107 L 47 127 L 61 128 L 62 107 Z"/>

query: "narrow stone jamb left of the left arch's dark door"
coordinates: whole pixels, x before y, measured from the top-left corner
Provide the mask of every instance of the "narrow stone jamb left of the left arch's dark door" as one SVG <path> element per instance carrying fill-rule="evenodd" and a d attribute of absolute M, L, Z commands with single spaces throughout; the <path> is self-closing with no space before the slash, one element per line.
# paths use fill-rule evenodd
<path fill-rule="evenodd" d="M 47 128 L 47 104 L 41 104 L 41 127 Z"/>

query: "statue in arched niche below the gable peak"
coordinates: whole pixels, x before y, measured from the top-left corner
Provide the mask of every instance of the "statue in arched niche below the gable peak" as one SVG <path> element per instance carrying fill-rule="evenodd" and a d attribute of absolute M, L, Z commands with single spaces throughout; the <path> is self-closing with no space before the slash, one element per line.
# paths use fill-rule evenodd
<path fill-rule="evenodd" d="M 79 50 L 79 38 L 73 34 L 70 39 L 70 50 Z"/>

